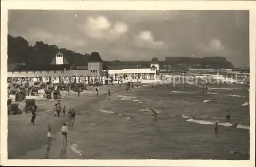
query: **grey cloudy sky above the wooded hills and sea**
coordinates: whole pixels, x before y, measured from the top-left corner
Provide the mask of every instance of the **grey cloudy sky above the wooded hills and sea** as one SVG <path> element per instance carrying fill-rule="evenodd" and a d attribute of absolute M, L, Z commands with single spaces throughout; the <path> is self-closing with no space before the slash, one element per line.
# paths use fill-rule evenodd
<path fill-rule="evenodd" d="M 9 10 L 8 34 L 106 61 L 220 56 L 249 67 L 248 11 Z"/>

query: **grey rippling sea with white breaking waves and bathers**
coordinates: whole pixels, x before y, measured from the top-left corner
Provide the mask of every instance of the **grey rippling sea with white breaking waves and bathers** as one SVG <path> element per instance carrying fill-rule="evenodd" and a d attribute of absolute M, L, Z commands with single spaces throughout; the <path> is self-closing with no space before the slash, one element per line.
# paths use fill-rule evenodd
<path fill-rule="evenodd" d="M 185 88 L 166 83 L 135 85 L 130 93 L 121 85 L 110 100 L 104 96 L 91 106 L 78 106 L 75 125 L 69 127 L 70 147 L 77 157 L 249 159 L 249 84 L 242 78 L 206 83 L 206 91 L 200 83 L 186 83 Z M 157 119 L 151 109 L 158 113 Z M 230 121 L 225 118 L 227 109 Z"/>

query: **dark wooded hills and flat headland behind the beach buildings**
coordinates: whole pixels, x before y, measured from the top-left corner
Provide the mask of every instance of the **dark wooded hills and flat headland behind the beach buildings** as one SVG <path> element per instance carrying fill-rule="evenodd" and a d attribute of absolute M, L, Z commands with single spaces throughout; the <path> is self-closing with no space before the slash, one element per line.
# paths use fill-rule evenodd
<path fill-rule="evenodd" d="M 8 63 L 25 63 L 27 65 L 48 65 L 55 54 L 61 51 L 70 64 L 87 66 L 89 53 L 81 54 L 56 45 L 49 45 L 43 41 L 29 45 L 23 37 L 13 37 L 8 34 Z M 120 53 L 121 55 L 121 53 Z M 151 58 L 148 61 L 104 61 L 106 66 L 119 66 L 126 68 L 150 68 Z M 224 57 L 166 57 L 165 61 L 159 61 L 161 69 L 183 69 L 183 68 L 226 68 L 233 69 L 234 66 Z"/>

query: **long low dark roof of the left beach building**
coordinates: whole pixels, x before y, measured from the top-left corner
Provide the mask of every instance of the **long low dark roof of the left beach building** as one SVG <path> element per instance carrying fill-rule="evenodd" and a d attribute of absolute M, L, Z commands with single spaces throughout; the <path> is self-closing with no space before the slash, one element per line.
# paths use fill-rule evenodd
<path fill-rule="evenodd" d="M 28 66 L 28 65 L 22 65 L 15 69 L 15 71 L 39 71 L 39 70 L 70 70 L 71 69 L 70 64 L 64 64 L 64 65 L 42 65 L 42 66 Z M 74 70 L 76 69 L 76 66 L 72 66 Z"/>

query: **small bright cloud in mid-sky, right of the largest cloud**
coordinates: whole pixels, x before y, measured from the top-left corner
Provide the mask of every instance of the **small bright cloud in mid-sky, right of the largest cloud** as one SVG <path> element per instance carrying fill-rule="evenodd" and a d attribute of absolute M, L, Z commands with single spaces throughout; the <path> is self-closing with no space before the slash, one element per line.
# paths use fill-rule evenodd
<path fill-rule="evenodd" d="M 151 31 L 141 31 L 135 38 L 134 43 L 139 47 L 162 47 L 163 41 L 155 41 Z"/>

